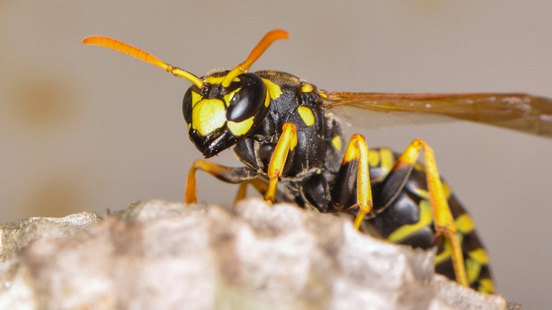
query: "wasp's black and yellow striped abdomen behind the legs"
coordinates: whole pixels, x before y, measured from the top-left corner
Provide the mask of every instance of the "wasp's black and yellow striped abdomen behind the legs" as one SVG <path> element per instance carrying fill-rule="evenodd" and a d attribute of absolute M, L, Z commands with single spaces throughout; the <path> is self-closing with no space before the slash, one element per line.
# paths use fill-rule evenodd
<path fill-rule="evenodd" d="M 391 150 L 385 148 L 374 149 L 369 153 L 374 209 L 383 205 L 388 207 L 367 221 L 374 226 L 382 238 L 391 242 L 415 248 L 437 246 L 436 272 L 456 280 L 448 241 L 444 238 L 435 239 L 424 166 L 416 164 L 402 190 L 393 188 L 396 186 L 395 183 L 386 183 L 391 173 L 398 173 L 398 171 L 391 171 L 397 157 L 398 154 L 393 154 Z M 480 292 L 493 292 L 488 255 L 477 235 L 473 220 L 449 190 L 447 183 L 443 181 L 443 185 L 456 222 L 457 234 L 461 240 L 468 282 L 473 289 Z M 395 193 L 398 190 L 400 192 L 389 203 L 384 198 L 389 194 L 384 193 L 393 193 L 393 190 Z"/>

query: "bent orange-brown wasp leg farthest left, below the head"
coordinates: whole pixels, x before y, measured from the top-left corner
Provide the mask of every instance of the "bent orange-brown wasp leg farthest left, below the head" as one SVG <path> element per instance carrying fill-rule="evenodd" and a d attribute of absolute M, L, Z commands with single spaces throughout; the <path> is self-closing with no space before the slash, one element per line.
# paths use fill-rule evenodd
<path fill-rule="evenodd" d="M 211 176 L 214 176 L 215 178 L 218 178 L 226 183 L 242 183 L 258 177 L 258 173 L 248 167 L 231 168 L 221 166 L 217 163 L 197 159 L 194 161 L 192 167 L 190 168 L 190 172 L 188 173 L 188 180 L 186 181 L 186 190 L 184 195 L 184 201 L 186 203 L 197 202 L 195 171 L 198 169 L 205 171 Z"/>

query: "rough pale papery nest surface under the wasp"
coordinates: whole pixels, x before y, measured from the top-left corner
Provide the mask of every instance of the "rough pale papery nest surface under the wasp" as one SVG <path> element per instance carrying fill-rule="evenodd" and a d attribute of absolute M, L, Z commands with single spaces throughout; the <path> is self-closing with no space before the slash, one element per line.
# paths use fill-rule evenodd
<path fill-rule="evenodd" d="M 0 227 L 1 309 L 507 309 L 434 275 L 431 251 L 292 205 L 68 218 Z"/>

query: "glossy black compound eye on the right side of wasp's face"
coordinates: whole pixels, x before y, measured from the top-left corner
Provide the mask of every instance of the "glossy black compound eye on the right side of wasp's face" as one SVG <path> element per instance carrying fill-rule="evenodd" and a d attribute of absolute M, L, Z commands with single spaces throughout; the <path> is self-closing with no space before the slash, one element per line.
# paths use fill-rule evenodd
<path fill-rule="evenodd" d="M 266 85 L 258 75 L 242 74 L 239 83 L 241 87 L 226 111 L 226 119 L 232 122 L 241 122 L 255 115 L 266 99 Z"/>

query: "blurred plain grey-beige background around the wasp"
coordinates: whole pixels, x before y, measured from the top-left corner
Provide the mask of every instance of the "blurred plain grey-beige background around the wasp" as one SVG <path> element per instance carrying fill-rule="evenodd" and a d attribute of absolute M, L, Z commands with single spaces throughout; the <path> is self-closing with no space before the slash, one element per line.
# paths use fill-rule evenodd
<path fill-rule="evenodd" d="M 0 1 L 0 222 L 181 200 L 200 157 L 185 130 L 190 85 L 81 45 L 109 35 L 198 76 L 234 67 L 273 28 L 291 33 L 252 70 L 331 91 L 524 91 L 552 97 L 550 1 Z M 552 140 L 466 122 L 362 132 L 370 146 L 435 149 L 476 219 L 498 292 L 552 297 Z M 231 151 L 214 161 L 238 166 Z M 200 200 L 236 186 L 200 173 Z M 216 188 L 214 188 L 216 186 Z"/>

